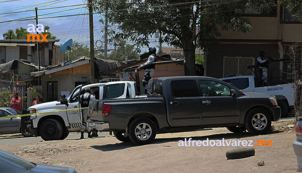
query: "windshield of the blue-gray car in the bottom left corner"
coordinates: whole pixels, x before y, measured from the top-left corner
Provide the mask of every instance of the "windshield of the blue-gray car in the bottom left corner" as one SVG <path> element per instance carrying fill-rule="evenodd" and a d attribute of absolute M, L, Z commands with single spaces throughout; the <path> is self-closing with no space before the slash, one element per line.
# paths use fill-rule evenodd
<path fill-rule="evenodd" d="M 10 165 L 18 165 L 21 166 L 22 168 L 25 168 L 27 170 L 33 169 L 36 167 L 35 164 L 28 162 L 26 160 L 23 160 L 17 156 L 14 156 L 12 154 L 6 153 L 2 150 L 0 150 L 0 161 L 3 162 L 8 162 Z"/>

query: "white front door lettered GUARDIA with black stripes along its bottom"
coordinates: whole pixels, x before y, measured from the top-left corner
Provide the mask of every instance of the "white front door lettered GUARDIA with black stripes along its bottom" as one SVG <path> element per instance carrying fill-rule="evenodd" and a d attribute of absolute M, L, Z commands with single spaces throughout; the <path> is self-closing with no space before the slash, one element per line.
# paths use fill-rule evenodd
<path fill-rule="evenodd" d="M 82 85 L 77 86 L 68 100 L 68 105 L 66 109 L 76 109 L 80 108 L 79 98 L 82 90 Z M 78 130 L 82 127 L 82 111 L 81 110 L 71 110 L 66 111 L 68 123 L 70 125 L 71 131 Z"/>

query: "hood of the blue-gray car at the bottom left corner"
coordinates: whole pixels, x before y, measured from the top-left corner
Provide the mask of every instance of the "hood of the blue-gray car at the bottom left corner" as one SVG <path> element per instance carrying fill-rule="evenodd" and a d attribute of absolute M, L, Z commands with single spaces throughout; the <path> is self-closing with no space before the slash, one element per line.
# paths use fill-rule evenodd
<path fill-rule="evenodd" d="M 29 173 L 76 173 L 77 171 L 74 168 L 68 167 L 59 167 L 59 166 L 52 166 L 52 165 L 43 165 L 43 164 L 36 164 L 36 167 L 29 170 Z"/>

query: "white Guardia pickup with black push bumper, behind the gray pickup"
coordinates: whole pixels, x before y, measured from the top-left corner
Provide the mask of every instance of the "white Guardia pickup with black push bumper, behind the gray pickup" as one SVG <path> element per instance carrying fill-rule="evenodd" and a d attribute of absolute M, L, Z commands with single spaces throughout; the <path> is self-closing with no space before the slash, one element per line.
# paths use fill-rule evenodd
<path fill-rule="evenodd" d="M 63 103 L 63 100 L 61 100 L 61 102 L 52 101 L 38 104 L 29 107 L 23 114 L 81 108 L 79 98 L 81 94 L 85 92 L 85 88 L 90 88 L 95 91 L 95 99 L 146 97 L 144 95 L 137 96 L 135 82 L 131 81 L 97 83 L 85 86 L 79 85 L 72 91 L 72 94 L 66 98 L 66 103 Z M 21 123 L 22 130 L 26 130 L 35 137 L 41 136 L 45 141 L 63 140 L 68 136 L 69 132 L 81 130 L 82 111 L 72 110 L 24 116 L 21 119 Z"/>

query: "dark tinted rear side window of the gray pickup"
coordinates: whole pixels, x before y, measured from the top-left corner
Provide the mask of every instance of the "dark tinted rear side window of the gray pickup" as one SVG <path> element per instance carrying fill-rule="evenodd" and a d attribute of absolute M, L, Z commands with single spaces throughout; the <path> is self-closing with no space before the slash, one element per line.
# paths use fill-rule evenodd
<path fill-rule="evenodd" d="M 199 97 L 195 80 L 171 81 L 173 97 Z"/>

